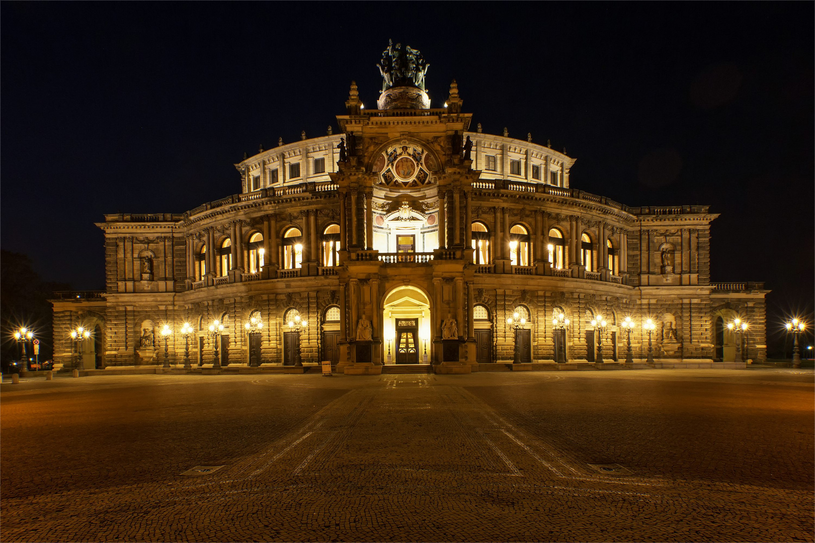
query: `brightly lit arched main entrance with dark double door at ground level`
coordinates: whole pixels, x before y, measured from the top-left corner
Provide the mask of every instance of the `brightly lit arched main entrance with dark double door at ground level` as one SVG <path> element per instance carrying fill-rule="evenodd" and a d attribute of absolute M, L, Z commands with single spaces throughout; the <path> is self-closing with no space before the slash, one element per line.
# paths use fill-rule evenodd
<path fill-rule="evenodd" d="M 382 316 L 385 364 L 430 361 L 430 301 L 416 287 L 399 287 L 385 296 Z"/>

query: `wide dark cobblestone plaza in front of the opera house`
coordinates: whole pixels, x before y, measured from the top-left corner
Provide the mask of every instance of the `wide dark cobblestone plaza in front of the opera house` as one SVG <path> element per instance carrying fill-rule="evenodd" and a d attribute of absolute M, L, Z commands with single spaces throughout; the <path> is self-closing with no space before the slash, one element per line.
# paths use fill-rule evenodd
<path fill-rule="evenodd" d="M 813 541 L 811 370 L 21 379 L 0 414 L 2 541 Z"/>

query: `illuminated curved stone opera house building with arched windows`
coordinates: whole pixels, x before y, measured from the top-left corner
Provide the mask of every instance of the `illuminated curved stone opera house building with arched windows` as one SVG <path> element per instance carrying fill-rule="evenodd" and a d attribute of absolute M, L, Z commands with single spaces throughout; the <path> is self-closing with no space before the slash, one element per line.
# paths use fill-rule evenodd
<path fill-rule="evenodd" d="M 631 208 L 576 190 L 565 151 L 473 129 L 455 81 L 445 107 L 425 108 L 415 87 L 384 94 L 389 109 L 365 109 L 352 84 L 338 134 L 236 164 L 240 194 L 106 215 L 106 290 L 54 300 L 55 361 L 77 364 L 68 331 L 82 323 L 95 340 L 81 367 L 161 365 L 166 323 L 170 364 L 183 365 L 189 322 L 192 367 L 209 368 L 218 319 L 227 367 L 623 363 L 624 317 L 637 363 L 648 318 L 658 365 L 764 359 L 767 291 L 710 282 L 707 206 Z M 726 330 L 734 317 L 750 324 L 746 353 Z"/>

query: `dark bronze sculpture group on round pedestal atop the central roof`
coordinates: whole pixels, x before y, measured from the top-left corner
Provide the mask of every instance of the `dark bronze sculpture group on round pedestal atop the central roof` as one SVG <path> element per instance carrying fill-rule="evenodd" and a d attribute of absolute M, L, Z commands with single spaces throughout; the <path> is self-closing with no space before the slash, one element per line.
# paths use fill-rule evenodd
<path fill-rule="evenodd" d="M 430 109 L 430 97 L 425 92 L 425 74 L 430 64 L 421 53 L 388 40 L 377 64 L 382 74 L 382 90 L 377 100 L 379 109 Z"/>

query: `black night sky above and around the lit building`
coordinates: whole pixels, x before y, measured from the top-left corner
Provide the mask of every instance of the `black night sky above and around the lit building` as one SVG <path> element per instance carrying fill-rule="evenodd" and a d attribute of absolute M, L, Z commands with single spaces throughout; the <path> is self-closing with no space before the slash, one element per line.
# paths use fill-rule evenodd
<path fill-rule="evenodd" d="M 2 247 L 104 288 L 94 222 L 240 192 L 258 146 L 325 134 L 388 39 L 473 128 L 577 159 L 571 186 L 710 204 L 712 280 L 813 308 L 813 2 L 2 2 Z M 772 337 L 769 338 L 772 341 Z"/>

